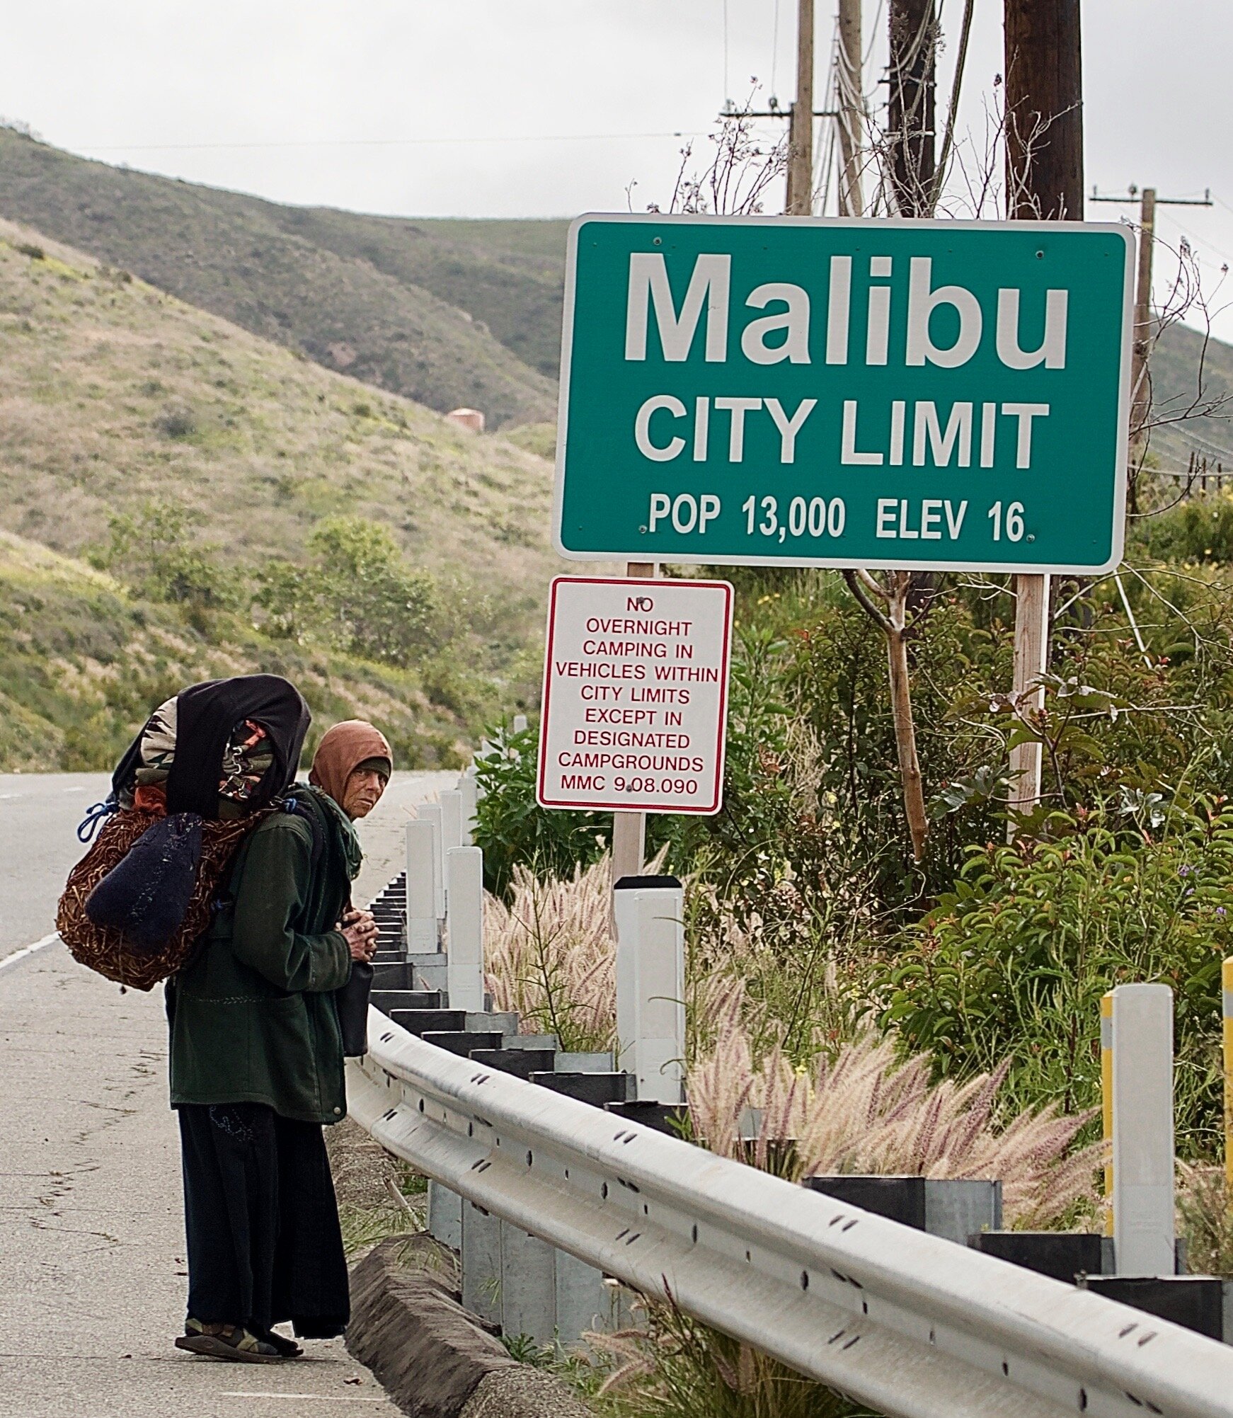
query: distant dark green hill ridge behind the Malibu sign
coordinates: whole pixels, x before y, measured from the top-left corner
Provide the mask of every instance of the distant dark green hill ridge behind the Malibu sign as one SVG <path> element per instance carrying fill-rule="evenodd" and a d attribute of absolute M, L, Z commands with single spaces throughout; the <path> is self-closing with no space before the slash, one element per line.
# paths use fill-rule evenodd
<path fill-rule="evenodd" d="M 309 359 L 490 427 L 551 420 L 565 221 L 374 217 L 108 167 L 0 128 L 0 216 Z M 1233 467 L 1233 346 L 1175 325 L 1152 354 L 1152 455 Z M 550 438 L 550 435 L 548 435 Z"/>

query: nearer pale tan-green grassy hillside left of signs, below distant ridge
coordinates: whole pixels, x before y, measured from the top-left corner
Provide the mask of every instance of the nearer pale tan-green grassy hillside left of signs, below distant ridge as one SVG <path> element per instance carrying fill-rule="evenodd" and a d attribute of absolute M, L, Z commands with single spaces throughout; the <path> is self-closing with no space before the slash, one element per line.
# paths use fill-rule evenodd
<path fill-rule="evenodd" d="M 11 533 L 0 764 L 45 752 L 48 766 L 102 766 L 152 699 L 242 668 L 283 668 L 319 706 L 374 715 L 418 763 L 456 756 L 485 716 L 533 693 L 544 590 L 560 569 L 541 458 L 10 223 L 0 367 L 0 527 Z M 115 564 L 112 520 L 137 529 L 122 542 L 146 536 L 150 506 L 181 527 L 176 550 L 214 569 L 218 594 L 153 604 L 57 556 Z M 255 628 L 261 573 L 272 559 L 309 566 L 313 533 L 340 515 L 390 527 L 407 574 L 431 577 L 410 659 L 357 659 L 329 625 L 279 640 Z M 140 571 L 143 547 L 119 550 Z"/>

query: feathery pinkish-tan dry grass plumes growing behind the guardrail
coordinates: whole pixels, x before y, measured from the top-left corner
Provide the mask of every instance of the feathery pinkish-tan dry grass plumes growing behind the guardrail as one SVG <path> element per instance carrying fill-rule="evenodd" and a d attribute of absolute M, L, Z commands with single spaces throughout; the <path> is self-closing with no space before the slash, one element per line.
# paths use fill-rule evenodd
<path fill-rule="evenodd" d="M 523 1028 L 564 1048 L 612 1048 L 615 973 L 608 927 L 608 859 L 568 881 L 514 876 L 509 906 L 489 898 L 488 987 Z M 1049 1227 L 1096 1207 L 1101 1147 L 1074 1149 L 1088 1113 L 1054 1107 L 1001 1124 L 1005 1069 L 967 1083 L 930 1082 L 930 1061 L 900 1061 L 890 1039 L 863 1034 L 794 1068 L 765 1007 L 750 1005 L 728 968 L 692 980 L 687 1069 L 694 1134 L 726 1157 L 792 1180 L 815 1173 L 989 1177 L 1002 1181 L 1006 1221 Z M 782 1032 L 782 1029 L 779 1029 Z"/>

